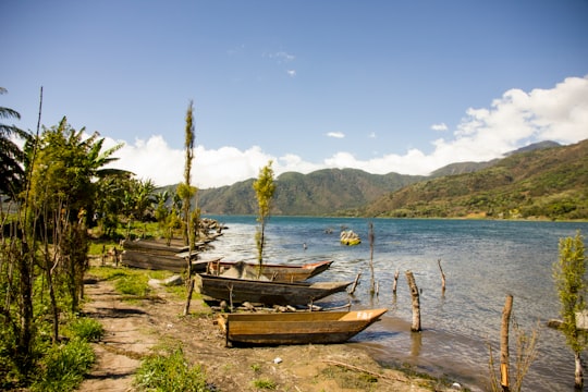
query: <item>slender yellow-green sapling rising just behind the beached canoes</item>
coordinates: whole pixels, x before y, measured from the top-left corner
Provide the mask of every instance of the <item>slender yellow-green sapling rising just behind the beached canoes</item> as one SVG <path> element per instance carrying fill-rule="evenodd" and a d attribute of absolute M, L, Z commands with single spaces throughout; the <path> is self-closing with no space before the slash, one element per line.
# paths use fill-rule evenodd
<path fill-rule="evenodd" d="M 257 231 L 255 234 L 255 243 L 257 245 L 257 261 L 259 264 L 258 275 L 261 274 L 261 268 L 264 266 L 264 247 L 266 245 L 266 223 L 271 212 L 271 201 L 275 192 L 275 184 L 273 183 L 273 169 L 271 169 L 272 161 L 270 160 L 267 166 L 259 170 L 259 176 L 254 181 L 253 187 L 257 197 L 257 205 L 259 212 L 257 216 Z"/>

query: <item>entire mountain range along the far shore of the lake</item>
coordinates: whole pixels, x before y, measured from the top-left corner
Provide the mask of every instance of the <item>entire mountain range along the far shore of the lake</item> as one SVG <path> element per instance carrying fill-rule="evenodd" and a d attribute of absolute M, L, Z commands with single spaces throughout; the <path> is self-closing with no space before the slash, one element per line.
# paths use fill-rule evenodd
<path fill-rule="evenodd" d="M 323 169 L 275 179 L 272 215 L 588 219 L 588 142 L 541 142 L 428 176 Z M 254 179 L 200 189 L 205 215 L 256 215 Z M 175 189 L 175 185 L 167 188 Z"/>

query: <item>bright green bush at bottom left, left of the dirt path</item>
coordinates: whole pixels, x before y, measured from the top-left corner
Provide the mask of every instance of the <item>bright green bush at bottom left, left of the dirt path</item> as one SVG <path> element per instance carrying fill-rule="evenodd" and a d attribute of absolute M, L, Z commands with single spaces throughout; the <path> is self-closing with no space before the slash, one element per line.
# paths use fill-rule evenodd
<path fill-rule="evenodd" d="M 89 370 L 96 355 L 89 343 L 73 339 L 66 344 L 53 345 L 41 360 L 38 379 L 32 391 L 73 391 Z"/>

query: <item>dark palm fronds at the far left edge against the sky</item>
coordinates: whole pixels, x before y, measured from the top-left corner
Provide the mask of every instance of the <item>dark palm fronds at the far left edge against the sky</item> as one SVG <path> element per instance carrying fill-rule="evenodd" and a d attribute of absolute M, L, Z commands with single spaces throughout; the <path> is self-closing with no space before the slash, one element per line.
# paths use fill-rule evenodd
<path fill-rule="evenodd" d="M 7 89 L 0 87 L 0 95 L 7 94 Z M 0 119 L 16 119 L 21 120 L 21 114 L 12 109 L 0 107 Z M 14 143 L 14 137 L 20 137 L 25 140 L 30 138 L 30 135 L 15 125 L 7 125 L 0 123 L 0 194 L 16 196 L 23 189 L 24 185 L 24 169 L 22 163 L 25 159 L 25 154 Z"/>

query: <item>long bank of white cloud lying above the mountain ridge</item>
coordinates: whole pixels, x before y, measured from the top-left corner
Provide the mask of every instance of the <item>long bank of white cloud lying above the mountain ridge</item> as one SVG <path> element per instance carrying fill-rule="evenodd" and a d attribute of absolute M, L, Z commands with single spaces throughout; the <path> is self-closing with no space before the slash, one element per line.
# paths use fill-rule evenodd
<path fill-rule="evenodd" d="M 343 138 L 345 135 L 330 132 L 327 136 Z M 257 146 L 246 150 L 197 146 L 193 183 L 208 188 L 256 177 L 270 159 L 277 175 L 286 171 L 309 173 L 324 168 L 356 168 L 376 174 L 428 174 L 452 162 L 494 159 L 535 142 L 550 139 L 571 144 L 586 138 L 588 76 L 569 77 L 551 89 L 530 93 L 512 89 L 495 99 L 490 108 L 468 109 L 451 138 L 432 140 L 434 149 L 428 155 L 413 148 L 403 155 L 388 154 L 358 160 L 352 152 L 340 151 L 321 162 L 307 162 L 292 154 L 274 157 Z M 105 147 L 114 143 L 110 139 Z M 135 140 L 115 156 L 120 160 L 114 167 L 131 170 L 140 179 L 151 179 L 158 185 L 182 181 L 184 152 L 170 148 L 162 136 Z"/>

